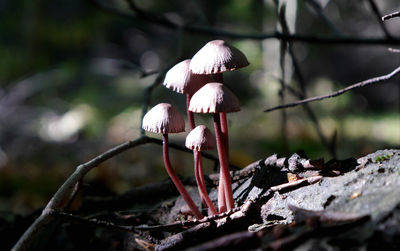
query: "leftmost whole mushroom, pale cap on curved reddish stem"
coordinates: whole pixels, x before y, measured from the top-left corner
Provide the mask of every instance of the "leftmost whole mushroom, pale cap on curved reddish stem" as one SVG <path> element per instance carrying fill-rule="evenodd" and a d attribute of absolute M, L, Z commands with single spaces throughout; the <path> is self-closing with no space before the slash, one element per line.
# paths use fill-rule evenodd
<path fill-rule="evenodd" d="M 185 131 L 185 121 L 178 110 L 170 104 L 161 103 L 150 109 L 143 117 L 142 127 L 146 131 L 161 133 L 163 135 L 163 159 L 165 169 L 172 182 L 175 184 L 179 193 L 188 204 L 190 210 L 197 219 L 202 219 L 203 215 L 194 204 L 189 193 L 179 180 L 174 169 L 172 169 L 168 153 L 168 133 L 180 133 Z"/>

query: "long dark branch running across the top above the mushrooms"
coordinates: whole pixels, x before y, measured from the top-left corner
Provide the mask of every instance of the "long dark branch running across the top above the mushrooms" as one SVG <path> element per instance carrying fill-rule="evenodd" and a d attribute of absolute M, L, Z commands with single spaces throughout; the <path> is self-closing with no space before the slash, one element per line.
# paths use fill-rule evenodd
<path fill-rule="evenodd" d="M 104 1 L 103 1 L 104 2 Z M 102 3 L 96 4 L 102 8 L 104 11 L 110 12 L 112 14 L 117 14 L 129 19 L 138 18 L 143 21 L 147 21 L 152 24 L 160 25 L 169 29 L 181 28 L 182 31 L 196 34 L 196 35 L 208 35 L 208 36 L 218 36 L 220 38 L 230 38 L 230 39 L 253 39 L 253 40 L 264 40 L 264 39 L 282 39 L 291 40 L 295 42 L 302 43 L 319 43 L 319 44 L 344 44 L 344 45 L 354 45 L 354 44 L 364 44 L 364 45 L 398 45 L 400 44 L 399 38 L 388 39 L 384 38 L 371 38 L 371 37 L 352 37 L 352 36 L 313 36 L 304 34 L 283 34 L 281 32 L 271 32 L 271 33 L 237 33 L 231 32 L 223 29 L 216 29 L 210 26 L 204 25 L 189 25 L 189 24 L 176 24 L 161 15 L 153 15 L 151 13 L 140 10 L 135 7 L 131 10 L 136 13 L 136 15 L 128 14 L 122 10 L 115 9 L 110 6 L 105 6 Z"/>

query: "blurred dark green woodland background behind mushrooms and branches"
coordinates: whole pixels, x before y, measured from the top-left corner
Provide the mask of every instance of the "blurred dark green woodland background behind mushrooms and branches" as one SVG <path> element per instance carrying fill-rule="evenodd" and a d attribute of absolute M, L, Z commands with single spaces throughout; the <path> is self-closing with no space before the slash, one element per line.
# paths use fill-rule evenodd
<path fill-rule="evenodd" d="M 400 146 L 399 77 L 311 103 L 308 110 L 298 106 L 285 114 L 263 112 L 282 100 L 298 100 L 301 90 L 309 97 L 324 95 L 388 74 L 400 65 L 400 54 L 388 48 L 400 45 L 294 42 L 301 81 L 279 40 L 207 33 L 211 28 L 238 34 L 283 31 L 275 1 L 136 2 L 143 11 L 139 15 L 124 0 L 0 1 L 2 215 L 43 207 L 77 165 L 139 137 L 146 88 L 167 67 L 191 58 L 213 39 L 225 39 L 251 63 L 224 74 L 242 107 L 228 115 L 231 162 L 236 166 L 273 153 L 287 156 L 304 150 L 311 158 L 329 160 Z M 371 2 L 287 1 L 282 13 L 291 33 L 399 38 L 400 20 L 386 21 L 385 31 Z M 376 4 L 382 14 L 399 10 L 397 0 Z M 206 31 L 187 32 L 158 20 Z M 185 114 L 185 97 L 162 85 L 151 93 L 150 107 L 160 102 Z M 196 120 L 212 126 L 208 116 Z M 173 135 L 170 141 L 183 145 L 185 135 Z M 179 174 L 193 174 L 190 154 L 170 154 Z M 206 173 L 213 171 L 213 162 L 204 164 Z M 109 196 L 165 179 L 161 147 L 148 144 L 100 165 L 85 182 L 88 194 Z"/>

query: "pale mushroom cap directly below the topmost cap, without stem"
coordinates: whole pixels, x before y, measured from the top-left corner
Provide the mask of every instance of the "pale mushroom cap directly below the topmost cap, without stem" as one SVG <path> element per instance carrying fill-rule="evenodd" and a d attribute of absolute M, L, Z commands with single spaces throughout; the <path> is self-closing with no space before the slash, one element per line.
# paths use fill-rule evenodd
<path fill-rule="evenodd" d="M 208 83 L 198 90 L 190 100 L 189 111 L 196 113 L 219 113 L 240 111 L 239 101 L 221 83 Z"/>

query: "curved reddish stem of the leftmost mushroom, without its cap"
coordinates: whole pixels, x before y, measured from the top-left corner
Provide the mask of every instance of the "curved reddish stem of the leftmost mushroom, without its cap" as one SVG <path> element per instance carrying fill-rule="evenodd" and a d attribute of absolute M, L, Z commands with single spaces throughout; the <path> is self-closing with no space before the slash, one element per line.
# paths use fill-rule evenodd
<path fill-rule="evenodd" d="M 200 213 L 199 209 L 194 204 L 192 198 L 190 197 L 189 193 L 187 192 L 186 188 L 183 186 L 182 182 L 179 180 L 178 176 L 176 175 L 174 169 L 171 167 L 171 162 L 169 160 L 169 153 L 168 153 L 168 134 L 163 134 L 163 157 L 164 157 L 164 165 L 165 169 L 167 169 L 167 173 L 171 178 L 172 182 L 174 182 L 176 188 L 178 189 L 179 193 L 182 195 L 183 199 L 186 201 L 187 205 L 189 206 L 190 210 L 194 214 L 197 219 L 202 219 L 204 216 Z"/>

